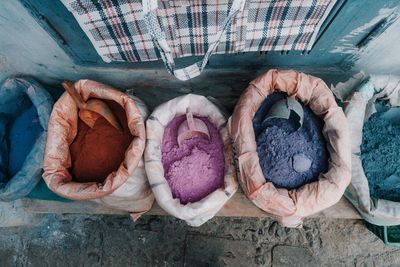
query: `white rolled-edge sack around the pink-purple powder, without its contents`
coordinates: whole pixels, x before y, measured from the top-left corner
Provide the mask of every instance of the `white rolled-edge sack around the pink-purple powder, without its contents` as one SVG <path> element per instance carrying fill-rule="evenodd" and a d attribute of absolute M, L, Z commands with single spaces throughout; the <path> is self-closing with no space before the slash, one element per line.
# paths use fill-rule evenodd
<path fill-rule="evenodd" d="M 224 142 L 225 187 L 215 190 L 200 201 L 182 205 L 179 199 L 172 197 L 171 189 L 164 177 L 161 144 L 166 125 L 176 116 L 185 114 L 188 107 L 195 115 L 207 116 L 219 129 Z M 174 98 L 158 106 L 146 122 L 147 144 L 144 158 L 147 176 L 157 203 L 166 212 L 185 220 L 191 226 L 200 226 L 211 219 L 237 190 L 232 145 L 226 122 L 226 118 L 216 105 L 204 96 L 193 94 Z"/>

